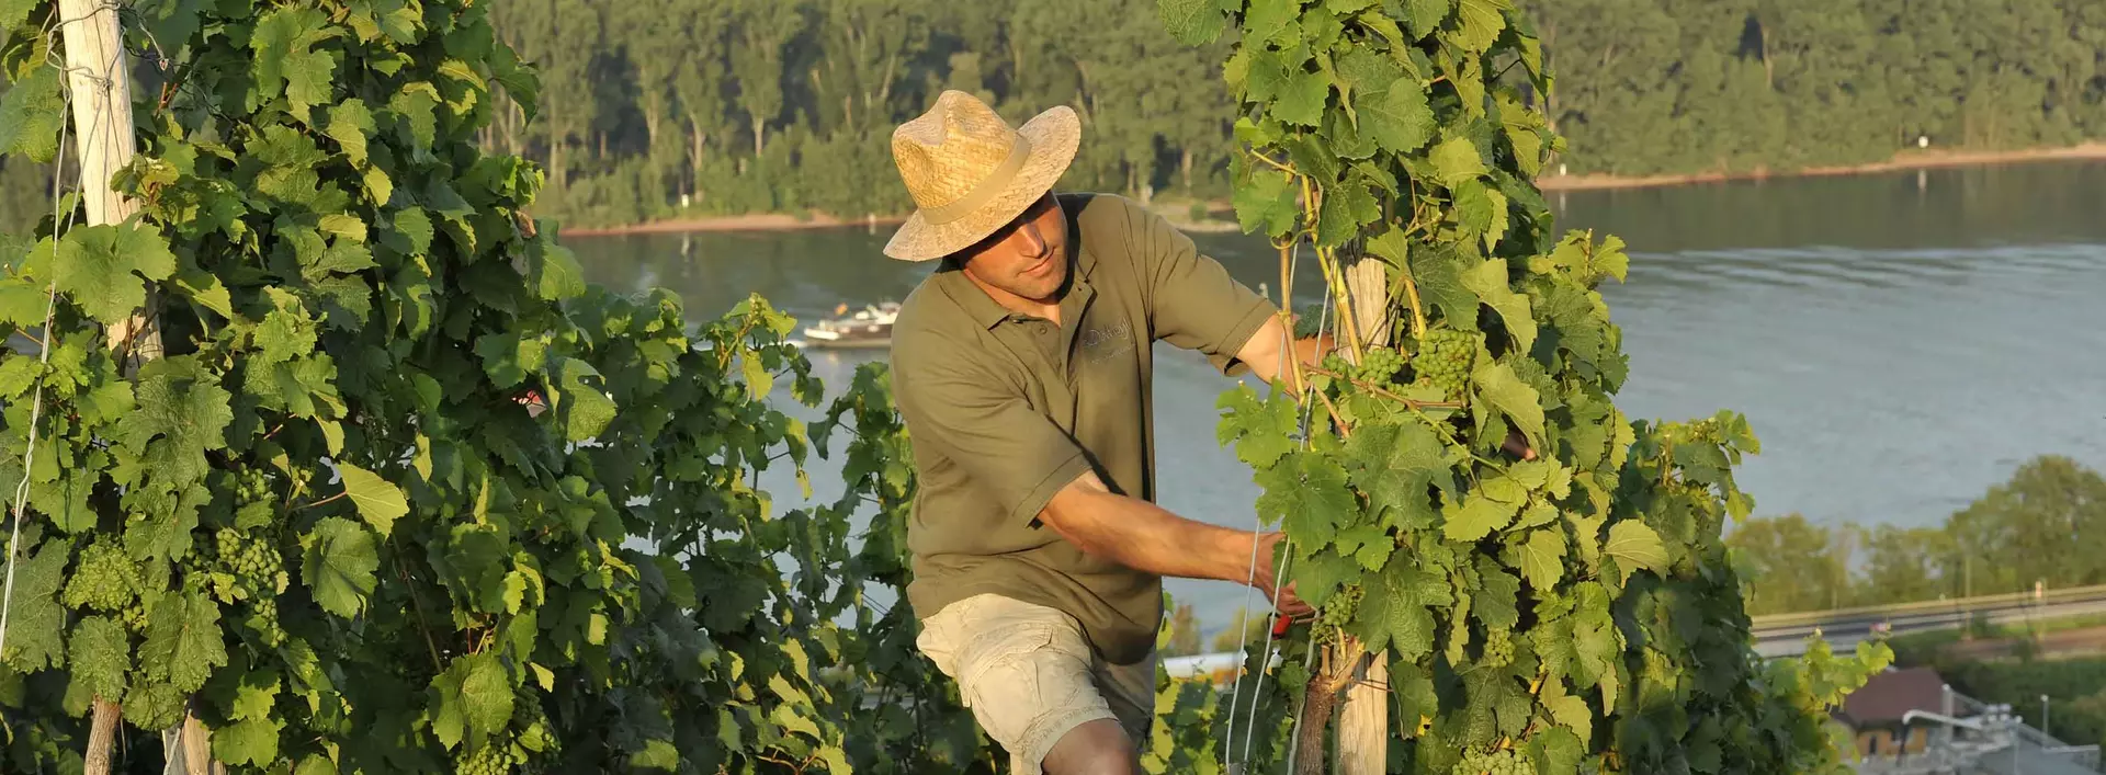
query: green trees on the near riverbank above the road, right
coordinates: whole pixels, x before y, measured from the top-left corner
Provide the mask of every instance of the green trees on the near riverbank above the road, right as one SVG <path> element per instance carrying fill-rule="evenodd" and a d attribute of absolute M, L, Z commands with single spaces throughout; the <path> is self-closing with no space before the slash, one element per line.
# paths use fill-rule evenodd
<path fill-rule="evenodd" d="M 1727 535 L 1748 613 L 1824 611 L 2106 583 L 2106 478 L 2068 457 L 2026 461 L 1940 526 L 1752 518 Z"/>

